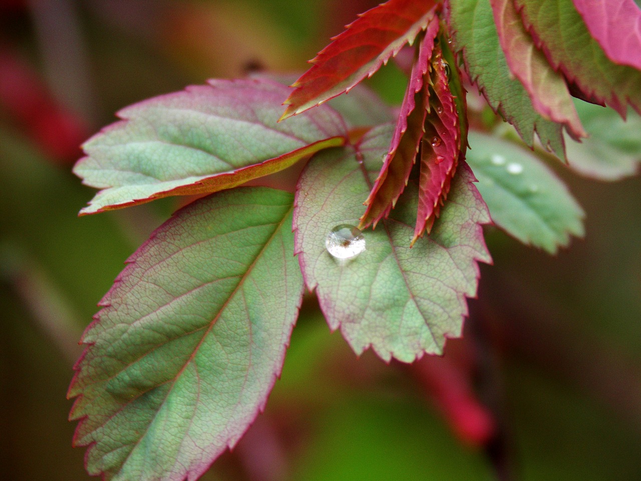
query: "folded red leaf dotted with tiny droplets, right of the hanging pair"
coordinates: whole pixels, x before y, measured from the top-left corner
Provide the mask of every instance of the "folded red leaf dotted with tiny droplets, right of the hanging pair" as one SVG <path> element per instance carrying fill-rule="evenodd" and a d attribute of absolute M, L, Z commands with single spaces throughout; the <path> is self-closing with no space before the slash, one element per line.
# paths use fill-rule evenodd
<path fill-rule="evenodd" d="M 454 97 L 447 85 L 449 67 L 440 47 L 432 55 L 429 115 L 420 151 L 419 208 L 412 244 L 430 230 L 447 197 L 461 151 L 460 124 Z"/>

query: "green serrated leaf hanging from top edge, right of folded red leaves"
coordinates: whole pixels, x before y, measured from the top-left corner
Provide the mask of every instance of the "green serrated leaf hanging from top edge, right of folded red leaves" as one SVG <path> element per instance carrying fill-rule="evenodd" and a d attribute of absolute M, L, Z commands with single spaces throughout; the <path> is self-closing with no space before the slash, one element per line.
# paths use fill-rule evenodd
<path fill-rule="evenodd" d="M 470 80 L 528 146 L 533 146 L 536 131 L 545 149 L 563 158 L 562 126 L 538 114 L 523 85 L 510 76 L 489 1 L 450 0 L 449 4 L 454 50 L 462 51 Z"/>

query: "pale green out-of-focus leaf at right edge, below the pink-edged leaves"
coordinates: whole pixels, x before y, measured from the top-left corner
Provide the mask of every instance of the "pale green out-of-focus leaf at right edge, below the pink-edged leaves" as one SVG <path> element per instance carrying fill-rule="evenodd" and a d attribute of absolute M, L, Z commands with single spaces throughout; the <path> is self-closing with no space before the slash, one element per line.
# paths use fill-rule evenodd
<path fill-rule="evenodd" d="M 580 174 L 619 180 L 638 173 L 641 162 L 641 117 L 629 110 L 623 121 L 610 108 L 575 100 L 579 117 L 590 134 L 581 144 L 567 142 L 567 160 Z"/>

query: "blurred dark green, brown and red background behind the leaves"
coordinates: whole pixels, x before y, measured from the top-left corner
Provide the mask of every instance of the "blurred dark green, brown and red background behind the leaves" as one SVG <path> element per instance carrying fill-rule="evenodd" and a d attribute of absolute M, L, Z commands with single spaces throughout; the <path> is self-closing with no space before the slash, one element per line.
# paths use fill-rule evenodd
<path fill-rule="evenodd" d="M 87 480 L 65 392 L 124 260 L 180 199 L 76 217 L 78 145 L 147 97 L 303 71 L 370 0 L 0 0 L 0 477 Z M 370 85 L 403 95 L 392 65 Z M 641 135 L 641 133 L 640 133 Z M 585 239 L 488 228 L 465 337 L 357 359 L 308 296 L 265 413 L 203 480 L 641 479 L 641 181 L 580 178 Z"/>

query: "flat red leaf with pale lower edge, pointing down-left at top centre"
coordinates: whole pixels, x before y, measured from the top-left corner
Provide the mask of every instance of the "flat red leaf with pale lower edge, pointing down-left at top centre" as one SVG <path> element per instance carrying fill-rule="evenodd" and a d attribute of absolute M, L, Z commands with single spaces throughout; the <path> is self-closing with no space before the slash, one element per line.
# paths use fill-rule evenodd
<path fill-rule="evenodd" d="M 388 0 L 361 13 L 331 44 L 310 60 L 312 67 L 292 87 L 281 119 L 349 92 L 365 77 L 412 44 L 435 17 L 435 0 Z M 438 7 L 440 8 L 440 7 Z"/>

